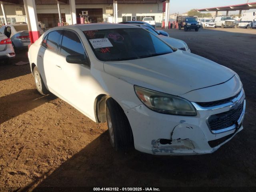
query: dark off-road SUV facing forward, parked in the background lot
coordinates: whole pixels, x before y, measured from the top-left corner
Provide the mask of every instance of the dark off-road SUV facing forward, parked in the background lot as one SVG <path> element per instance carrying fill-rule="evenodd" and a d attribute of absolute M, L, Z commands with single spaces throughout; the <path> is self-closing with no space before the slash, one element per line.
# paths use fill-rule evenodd
<path fill-rule="evenodd" d="M 190 29 L 198 31 L 200 28 L 199 23 L 196 21 L 194 17 L 177 16 L 176 20 L 179 25 L 179 30 L 181 30 L 181 28 L 184 28 L 184 31 L 188 31 Z"/>

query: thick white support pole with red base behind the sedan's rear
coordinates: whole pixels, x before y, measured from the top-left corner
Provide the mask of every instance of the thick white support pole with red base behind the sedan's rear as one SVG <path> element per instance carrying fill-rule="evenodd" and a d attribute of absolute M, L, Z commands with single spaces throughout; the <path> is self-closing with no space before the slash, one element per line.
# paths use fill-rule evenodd
<path fill-rule="evenodd" d="M 23 0 L 26 17 L 28 20 L 28 32 L 30 36 L 30 42 L 33 44 L 40 37 L 37 14 L 36 14 L 36 3 L 34 0 Z"/>

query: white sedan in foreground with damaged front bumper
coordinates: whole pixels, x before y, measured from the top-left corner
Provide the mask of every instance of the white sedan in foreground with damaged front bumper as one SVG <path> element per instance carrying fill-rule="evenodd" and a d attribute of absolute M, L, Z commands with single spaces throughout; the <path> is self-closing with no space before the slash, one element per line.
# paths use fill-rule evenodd
<path fill-rule="evenodd" d="M 95 122 L 108 122 L 116 150 L 206 154 L 243 129 L 238 75 L 174 50 L 142 28 L 86 24 L 51 28 L 28 50 L 36 88 Z"/>

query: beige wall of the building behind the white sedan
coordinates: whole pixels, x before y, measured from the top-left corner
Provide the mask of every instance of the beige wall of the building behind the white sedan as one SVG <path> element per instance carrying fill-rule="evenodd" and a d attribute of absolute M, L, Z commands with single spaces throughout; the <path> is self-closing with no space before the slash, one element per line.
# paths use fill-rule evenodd
<path fill-rule="evenodd" d="M 131 1 L 134 2 L 134 1 Z M 138 1 L 140 2 L 140 1 Z M 151 1 L 148 1 L 151 2 Z M 152 3 L 158 2 L 158 3 Z M 155 16 L 156 26 L 161 26 L 163 13 L 161 1 L 152 0 L 151 3 L 120 3 L 118 4 L 118 22 L 122 22 L 122 16 Z M 82 3 L 82 1 L 81 1 Z M 102 8 L 103 20 L 107 20 L 106 6 L 113 6 L 113 4 L 76 4 L 76 8 Z M 16 22 L 26 22 L 25 16 L 17 16 L 15 8 L 23 5 L 5 4 L 5 12 L 7 18 L 15 18 Z M 65 14 L 66 22 L 71 24 L 70 5 L 60 4 L 61 13 Z M 24 10 L 24 8 L 23 8 Z M 56 4 L 37 4 L 37 13 L 58 13 L 58 7 Z M 25 14 L 25 12 L 24 12 Z M 112 15 L 113 16 L 113 15 Z M 2 16 L 2 10 L 0 9 L 0 17 Z"/>

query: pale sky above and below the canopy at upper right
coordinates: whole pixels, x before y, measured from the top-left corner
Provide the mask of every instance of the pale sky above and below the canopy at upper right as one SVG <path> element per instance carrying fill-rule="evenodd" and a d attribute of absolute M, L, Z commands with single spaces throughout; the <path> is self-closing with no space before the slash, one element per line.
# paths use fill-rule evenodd
<path fill-rule="evenodd" d="M 170 14 L 185 13 L 191 9 L 244 4 L 246 2 L 247 0 L 170 0 Z M 256 2 L 256 0 L 249 0 L 250 2 Z M 250 12 L 252 11 L 250 10 Z M 230 14 L 236 14 L 236 12 L 232 11 Z"/>

